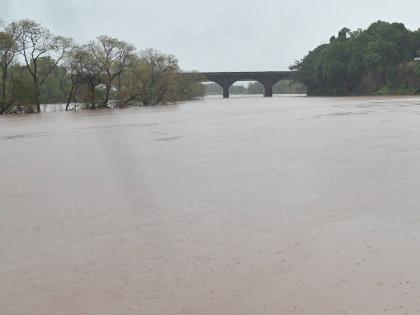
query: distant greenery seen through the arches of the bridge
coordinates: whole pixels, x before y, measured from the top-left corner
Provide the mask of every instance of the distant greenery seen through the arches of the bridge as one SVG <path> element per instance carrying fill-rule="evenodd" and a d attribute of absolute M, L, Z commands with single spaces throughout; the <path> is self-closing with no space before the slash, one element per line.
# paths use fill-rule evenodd
<path fill-rule="evenodd" d="M 248 86 L 232 85 L 229 88 L 230 94 L 264 94 L 264 86 L 259 82 L 250 82 Z M 223 89 L 216 83 L 209 83 L 205 85 L 206 95 L 221 95 Z M 277 82 L 273 86 L 274 94 L 305 94 L 305 86 L 299 82 L 293 82 L 291 80 L 282 80 Z"/>

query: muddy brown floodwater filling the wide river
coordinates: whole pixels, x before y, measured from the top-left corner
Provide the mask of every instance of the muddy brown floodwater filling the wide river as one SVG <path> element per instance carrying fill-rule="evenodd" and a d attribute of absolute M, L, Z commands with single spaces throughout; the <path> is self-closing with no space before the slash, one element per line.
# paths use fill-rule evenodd
<path fill-rule="evenodd" d="M 420 98 L 0 118 L 0 314 L 420 313 Z"/>

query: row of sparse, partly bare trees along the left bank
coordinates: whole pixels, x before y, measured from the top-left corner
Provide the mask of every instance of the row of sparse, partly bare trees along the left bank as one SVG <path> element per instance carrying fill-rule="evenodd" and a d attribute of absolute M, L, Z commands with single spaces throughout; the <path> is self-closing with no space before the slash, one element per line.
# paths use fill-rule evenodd
<path fill-rule="evenodd" d="M 108 36 L 78 45 L 31 20 L 0 32 L 0 114 L 39 112 L 46 103 L 68 110 L 189 100 L 204 93 L 195 76 L 182 75 L 174 56 Z"/>

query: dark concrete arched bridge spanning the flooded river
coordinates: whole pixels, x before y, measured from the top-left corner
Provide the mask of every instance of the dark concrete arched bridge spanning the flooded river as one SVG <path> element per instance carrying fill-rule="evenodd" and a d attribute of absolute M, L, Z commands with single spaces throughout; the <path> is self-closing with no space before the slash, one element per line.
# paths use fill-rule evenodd
<path fill-rule="evenodd" d="M 293 71 L 262 72 L 198 72 L 201 82 L 215 82 L 223 88 L 223 97 L 229 97 L 229 87 L 237 81 L 257 81 L 264 86 L 264 96 L 273 96 L 273 86 L 281 80 L 294 80 Z"/>

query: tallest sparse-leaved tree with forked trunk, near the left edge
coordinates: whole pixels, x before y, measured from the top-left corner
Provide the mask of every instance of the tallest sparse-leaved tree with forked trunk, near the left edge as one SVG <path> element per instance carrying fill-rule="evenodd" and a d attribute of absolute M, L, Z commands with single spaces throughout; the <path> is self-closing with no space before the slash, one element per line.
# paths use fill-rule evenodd
<path fill-rule="evenodd" d="M 51 71 L 65 56 L 71 46 L 71 40 L 62 36 L 53 36 L 49 30 L 31 20 L 13 22 L 18 30 L 19 53 L 23 56 L 26 68 L 33 81 L 34 103 L 36 111 L 41 111 L 41 88 Z M 43 73 L 39 71 L 39 60 L 42 57 L 54 56 L 54 63 Z"/>

